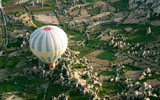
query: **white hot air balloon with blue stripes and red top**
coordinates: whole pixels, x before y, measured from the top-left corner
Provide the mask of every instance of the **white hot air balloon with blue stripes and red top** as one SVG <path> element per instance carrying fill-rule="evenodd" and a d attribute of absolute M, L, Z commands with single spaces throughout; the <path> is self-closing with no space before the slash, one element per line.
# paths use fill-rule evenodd
<path fill-rule="evenodd" d="M 36 29 L 29 39 L 29 46 L 34 55 L 55 68 L 55 61 L 61 57 L 68 45 L 66 33 L 57 26 L 43 26 Z"/>

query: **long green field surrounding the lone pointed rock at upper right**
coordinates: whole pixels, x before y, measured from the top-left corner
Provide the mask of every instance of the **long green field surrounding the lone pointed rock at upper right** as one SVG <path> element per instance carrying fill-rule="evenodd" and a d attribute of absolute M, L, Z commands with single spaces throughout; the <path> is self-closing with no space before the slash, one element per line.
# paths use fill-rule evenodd
<path fill-rule="evenodd" d="M 151 26 L 148 24 L 146 25 L 122 24 L 119 26 L 117 26 L 116 24 L 102 24 L 99 27 L 101 27 L 101 29 L 103 29 L 104 27 L 104 28 L 119 30 L 119 33 L 124 34 L 128 38 L 129 42 L 134 42 L 134 43 L 155 41 L 157 40 L 157 36 L 160 35 L 160 30 L 158 26 Z M 133 30 L 137 31 L 135 31 L 134 33 L 125 32 L 124 29 L 127 27 L 131 27 L 133 28 Z M 149 35 L 146 34 L 148 27 L 150 27 L 152 31 L 152 33 Z"/>

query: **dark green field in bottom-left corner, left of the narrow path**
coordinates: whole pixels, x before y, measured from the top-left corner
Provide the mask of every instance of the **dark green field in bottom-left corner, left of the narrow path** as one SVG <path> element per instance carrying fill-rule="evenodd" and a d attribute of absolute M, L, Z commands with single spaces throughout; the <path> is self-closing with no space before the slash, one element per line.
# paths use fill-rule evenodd
<path fill-rule="evenodd" d="M 26 98 L 27 100 L 34 100 L 36 97 L 42 99 L 44 88 L 40 88 L 38 91 L 36 91 L 35 88 L 39 88 L 40 85 L 44 84 L 43 82 L 44 81 L 39 78 L 28 80 L 25 76 L 15 76 L 8 82 L 0 83 L 0 94 L 14 91 L 17 92 L 16 94 L 18 96 Z M 22 92 L 26 95 L 22 94 Z M 41 92 L 41 94 L 39 92 Z"/>

